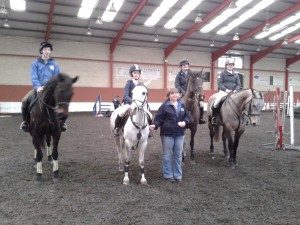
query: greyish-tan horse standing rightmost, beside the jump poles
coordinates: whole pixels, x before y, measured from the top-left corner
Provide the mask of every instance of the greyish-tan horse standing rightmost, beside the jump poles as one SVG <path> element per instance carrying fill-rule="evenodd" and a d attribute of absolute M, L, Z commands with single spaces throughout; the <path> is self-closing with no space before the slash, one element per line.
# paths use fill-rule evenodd
<path fill-rule="evenodd" d="M 243 122 L 245 117 L 251 125 L 260 124 L 260 112 L 264 106 L 264 97 L 261 92 L 253 89 L 246 89 L 240 92 L 229 94 L 222 103 L 218 116 L 217 125 L 211 124 L 211 107 L 218 93 L 212 95 L 208 99 L 207 117 L 208 128 L 210 135 L 210 153 L 214 157 L 213 140 L 220 140 L 221 127 L 223 127 L 222 141 L 225 157 L 228 156 L 226 147 L 226 139 L 228 140 L 229 163 L 232 169 L 237 166 L 236 153 L 239 145 L 239 140 L 245 131 L 246 124 Z"/>

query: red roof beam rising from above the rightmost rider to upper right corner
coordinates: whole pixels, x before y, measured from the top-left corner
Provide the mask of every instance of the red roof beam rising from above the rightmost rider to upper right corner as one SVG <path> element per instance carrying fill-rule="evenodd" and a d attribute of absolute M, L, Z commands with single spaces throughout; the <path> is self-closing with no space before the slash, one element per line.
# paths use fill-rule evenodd
<path fill-rule="evenodd" d="M 276 23 L 280 20 L 282 20 L 283 18 L 290 16 L 291 13 L 297 11 L 300 9 L 300 2 L 294 4 L 293 6 L 289 7 L 288 9 L 286 9 L 285 11 L 283 11 L 282 13 L 274 16 L 273 18 L 268 20 L 269 24 L 273 24 Z M 212 53 L 212 61 L 216 61 L 218 58 L 220 58 L 222 55 L 224 55 L 229 49 L 231 49 L 233 46 L 245 41 L 246 39 L 252 37 L 253 35 L 255 35 L 256 33 L 258 33 L 259 31 L 262 31 L 263 28 L 265 26 L 265 23 L 255 27 L 254 29 L 250 30 L 249 32 L 247 32 L 246 34 L 244 34 L 243 36 L 240 37 L 240 40 L 238 41 L 233 41 L 228 43 L 227 45 L 225 45 L 223 48 L 220 48 L 219 50 L 215 51 Z"/>

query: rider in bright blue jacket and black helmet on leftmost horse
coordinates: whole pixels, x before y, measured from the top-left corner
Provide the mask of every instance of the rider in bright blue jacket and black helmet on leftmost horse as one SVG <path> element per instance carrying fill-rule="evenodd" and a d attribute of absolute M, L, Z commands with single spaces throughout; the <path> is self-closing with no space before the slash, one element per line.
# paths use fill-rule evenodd
<path fill-rule="evenodd" d="M 53 58 L 50 57 L 53 47 L 47 41 L 43 41 L 40 44 L 39 56 L 32 62 L 30 67 L 30 77 L 33 90 L 30 90 L 22 99 L 22 118 L 20 129 L 25 132 L 29 131 L 29 105 L 31 101 L 36 97 L 36 94 L 43 91 L 44 85 L 51 77 L 60 73 L 58 64 Z M 64 122 L 61 123 L 61 131 L 66 131 L 67 126 Z"/>

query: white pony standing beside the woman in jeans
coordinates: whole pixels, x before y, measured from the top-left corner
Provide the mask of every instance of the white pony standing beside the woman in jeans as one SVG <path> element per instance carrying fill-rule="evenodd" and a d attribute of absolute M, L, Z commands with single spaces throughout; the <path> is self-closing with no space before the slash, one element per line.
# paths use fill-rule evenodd
<path fill-rule="evenodd" d="M 120 130 L 120 136 L 115 137 L 118 157 L 119 171 L 125 171 L 123 184 L 129 184 L 129 164 L 131 160 L 131 150 L 139 152 L 139 166 L 141 169 L 141 184 L 147 184 L 144 175 L 144 155 L 147 148 L 149 124 L 148 117 L 152 120 L 152 115 L 147 109 L 148 89 L 144 85 L 137 85 L 132 91 L 132 104 L 122 105 L 117 108 L 110 117 L 110 125 L 113 133 L 115 119 L 117 115 L 123 117 L 129 112 L 124 130 Z"/>

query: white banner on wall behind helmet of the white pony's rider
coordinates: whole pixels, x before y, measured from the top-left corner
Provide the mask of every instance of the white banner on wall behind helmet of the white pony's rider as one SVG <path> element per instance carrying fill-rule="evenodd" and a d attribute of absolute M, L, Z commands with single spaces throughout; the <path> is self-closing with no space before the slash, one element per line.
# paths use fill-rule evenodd
<path fill-rule="evenodd" d="M 116 66 L 115 67 L 116 79 L 128 79 L 129 68 Z M 159 80 L 160 79 L 160 69 L 158 68 L 142 68 L 143 80 Z"/>

